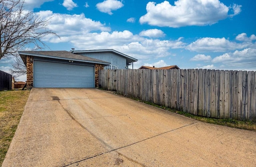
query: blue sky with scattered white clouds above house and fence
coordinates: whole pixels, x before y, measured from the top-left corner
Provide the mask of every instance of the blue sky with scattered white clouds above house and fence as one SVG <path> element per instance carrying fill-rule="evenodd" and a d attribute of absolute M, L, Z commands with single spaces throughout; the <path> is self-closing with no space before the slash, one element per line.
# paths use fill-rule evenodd
<path fill-rule="evenodd" d="M 51 50 L 115 49 L 142 65 L 256 71 L 255 0 L 25 0 Z M 50 50 L 45 48 L 44 50 Z M 12 58 L 0 60 L 8 72 Z M 25 81 L 26 76 L 20 77 Z"/>

